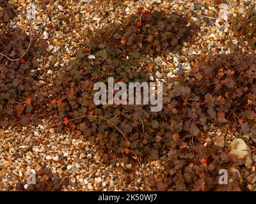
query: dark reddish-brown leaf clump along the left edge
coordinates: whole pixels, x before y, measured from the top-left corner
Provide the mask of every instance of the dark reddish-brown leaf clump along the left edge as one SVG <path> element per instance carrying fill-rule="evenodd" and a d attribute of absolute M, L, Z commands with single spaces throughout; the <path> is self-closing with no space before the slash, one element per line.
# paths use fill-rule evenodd
<path fill-rule="evenodd" d="M 29 40 L 21 29 L 9 29 L 0 37 L 0 52 L 17 59 L 26 51 Z M 45 41 L 32 41 L 27 54 L 18 61 L 10 61 L 0 55 L 0 126 L 14 124 L 17 119 L 26 125 L 33 119 L 34 105 L 43 100 L 38 82 L 40 72 L 36 68 L 38 57 L 46 53 L 46 45 Z"/>

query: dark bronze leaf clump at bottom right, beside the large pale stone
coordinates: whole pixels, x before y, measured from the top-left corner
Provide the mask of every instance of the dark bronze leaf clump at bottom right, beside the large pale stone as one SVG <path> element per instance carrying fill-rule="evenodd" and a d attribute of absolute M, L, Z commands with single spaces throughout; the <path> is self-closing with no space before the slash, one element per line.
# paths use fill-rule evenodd
<path fill-rule="evenodd" d="M 228 172 L 232 182 L 221 185 L 221 169 L 239 164 L 239 160 L 226 154 L 220 147 L 191 145 L 189 149 L 173 150 L 164 165 L 163 178 L 152 177 L 153 191 L 241 191 L 237 173 Z"/>

